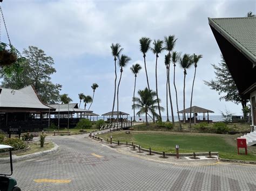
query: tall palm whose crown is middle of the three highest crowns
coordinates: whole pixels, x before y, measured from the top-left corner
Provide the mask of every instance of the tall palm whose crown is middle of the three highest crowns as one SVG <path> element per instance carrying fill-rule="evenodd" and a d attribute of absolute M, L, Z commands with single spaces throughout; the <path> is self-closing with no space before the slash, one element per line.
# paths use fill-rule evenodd
<path fill-rule="evenodd" d="M 163 40 L 154 40 L 154 42 L 153 42 L 154 47 L 151 48 L 152 52 L 154 54 L 156 54 L 156 92 L 157 92 L 157 100 L 158 101 L 159 101 L 159 97 L 158 97 L 158 87 L 157 87 L 157 59 L 159 57 L 158 54 L 160 54 L 164 50 L 163 43 L 164 43 Z M 161 122 L 162 116 L 161 116 L 160 104 L 159 104 L 159 102 L 157 102 L 157 104 L 158 104 L 158 111 L 159 111 L 159 121 Z"/>

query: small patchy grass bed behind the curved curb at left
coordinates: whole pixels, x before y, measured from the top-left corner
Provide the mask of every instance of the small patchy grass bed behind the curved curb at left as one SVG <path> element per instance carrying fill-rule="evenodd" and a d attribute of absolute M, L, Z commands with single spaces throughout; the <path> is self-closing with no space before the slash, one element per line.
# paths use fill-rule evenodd
<path fill-rule="evenodd" d="M 20 156 L 20 155 L 31 154 L 31 153 L 36 153 L 40 151 L 47 151 L 54 147 L 52 142 L 45 142 L 43 148 L 40 147 L 40 142 L 33 142 L 33 143 L 29 143 L 28 145 L 30 146 L 29 151 L 16 153 L 15 155 Z M 0 154 L 0 158 L 3 158 L 3 157 L 9 157 L 9 154 L 8 155 Z"/>

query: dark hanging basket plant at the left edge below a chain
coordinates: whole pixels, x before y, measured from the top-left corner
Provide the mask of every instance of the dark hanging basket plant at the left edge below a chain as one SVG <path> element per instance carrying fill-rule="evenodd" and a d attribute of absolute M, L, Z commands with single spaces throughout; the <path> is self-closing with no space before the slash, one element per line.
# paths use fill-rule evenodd
<path fill-rule="evenodd" d="M 5 43 L 0 43 L 0 66 L 10 66 L 17 61 L 19 52 L 17 49 Z"/>

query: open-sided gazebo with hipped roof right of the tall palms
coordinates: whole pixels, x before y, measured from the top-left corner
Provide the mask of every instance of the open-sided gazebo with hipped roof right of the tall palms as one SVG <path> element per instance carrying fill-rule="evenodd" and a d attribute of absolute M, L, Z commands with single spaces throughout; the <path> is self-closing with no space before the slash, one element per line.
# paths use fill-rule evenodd
<path fill-rule="evenodd" d="M 184 113 L 184 110 L 179 111 L 180 114 Z M 186 116 L 183 116 L 185 118 L 186 122 L 190 121 L 190 118 L 188 117 L 188 114 L 190 114 L 190 108 L 185 109 L 185 113 L 187 114 L 187 121 L 186 121 Z M 196 124 L 197 122 L 206 122 L 205 120 L 205 114 L 207 113 L 207 123 L 212 122 L 212 120 L 209 121 L 209 113 L 214 113 L 214 111 L 205 109 L 205 108 L 200 108 L 198 106 L 192 106 L 191 107 L 191 113 L 193 113 L 193 120 L 194 123 Z M 197 119 L 197 114 L 203 113 L 203 120 L 198 120 Z"/>

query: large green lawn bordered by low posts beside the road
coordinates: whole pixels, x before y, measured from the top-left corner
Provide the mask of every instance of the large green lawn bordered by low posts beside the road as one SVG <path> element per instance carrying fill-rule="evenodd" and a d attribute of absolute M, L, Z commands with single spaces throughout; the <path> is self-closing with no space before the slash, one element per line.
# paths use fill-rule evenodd
<path fill-rule="evenodd" d="M 179 145 L 180 153 L 217 151 L 221 158 L 238 160 L 256 160 L 256 147 L 248 147 L 248 155 L 237 154 L 236 138 L 238 135 L 218 135 L 213 133 L 178 133 L 163 131 L 118 131 L 100 135 L 106 140 L 112 135 L 113 140 L 133 142 L 143 148 L 151 147 L 154 151 L 175 153 Z M 240 150 L 244 153 L 244 150 Z"/>

